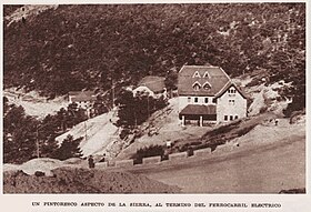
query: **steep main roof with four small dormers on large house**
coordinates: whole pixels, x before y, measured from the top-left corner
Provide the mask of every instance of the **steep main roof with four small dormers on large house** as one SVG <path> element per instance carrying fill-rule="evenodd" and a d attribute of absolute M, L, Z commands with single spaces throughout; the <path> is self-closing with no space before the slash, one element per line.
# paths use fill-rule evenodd
<path fill-rule="evenodd" d="M 193 77 L 199 73 L 201 78 Z M 204 77 L 205 74 L 205 77 Z M 212 65 L 183 65 L 178 74 L 178 93 L 180 95 L 215 95 L 230 81 L 228 74 L 219 67 Z M 199 82 L 210 84 L 210 89 L 193 89 L 193 84 Z"/>

